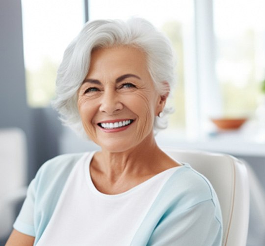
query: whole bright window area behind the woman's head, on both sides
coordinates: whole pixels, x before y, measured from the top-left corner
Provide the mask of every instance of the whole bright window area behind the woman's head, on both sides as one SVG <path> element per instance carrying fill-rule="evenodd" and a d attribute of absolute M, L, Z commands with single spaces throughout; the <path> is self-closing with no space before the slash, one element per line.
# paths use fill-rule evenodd
<path fill-rule="evenodd" d="M 264 0 L 22 0 L 22 6 L 30 106 L 49 105 L 63 51 L 86 12 L 89 20 L 143 17 L 171 39 L 177 86 L 164 136 L 199 138 L 212 117 L 255 113 L 265 79 Z"/>

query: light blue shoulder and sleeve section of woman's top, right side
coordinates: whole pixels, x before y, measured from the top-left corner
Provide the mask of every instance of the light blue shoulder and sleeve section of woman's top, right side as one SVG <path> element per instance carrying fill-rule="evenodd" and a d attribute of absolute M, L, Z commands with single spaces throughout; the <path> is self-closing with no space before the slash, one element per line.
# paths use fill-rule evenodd
<path fill-rule="evenodd" d="M 185 164 L 161 188 L 132 245 L 220 245 L 221 221 L 212 185 Z"/>

